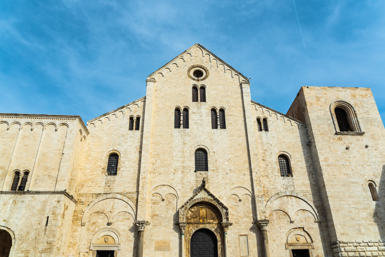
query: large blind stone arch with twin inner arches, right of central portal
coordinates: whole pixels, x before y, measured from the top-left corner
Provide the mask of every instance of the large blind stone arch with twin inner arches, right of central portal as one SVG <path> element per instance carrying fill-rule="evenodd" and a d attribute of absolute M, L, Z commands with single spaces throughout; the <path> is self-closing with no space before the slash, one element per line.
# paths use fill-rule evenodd
<path fill-rule="evenodd" d="M 289 210 L 288 208 L 286 208 L 285 205 L 283 205 L 283 203 L 282 204 L 278 203 L 278 206 L 274 206 L 273 202 L 275 202 L 277 199 L 280 199 L 281 197 L 294 197 L 296 199 L 300 199 L 301 201 L 303 201 L 303 204 L 302 204 L 303 206 L 299 206 L 297 209 L 293 209 L 293 210 Z M 319 220 L 320 215 L 318 214 L 317 209 L 311 203 L 311 201 L 307 199 L 304 195 L 293 191 L 291 192 L 285 191 L 285 192 L 280 192 L 278 194 L 273 195 L 265 205 L 264 214 L 268 216 L 273 210 L 282 210 L 283 212 L 287 212 L 289 217 L 294 217 L 295 212 L 298 210 L 308 210 L 315 217 L 314 222 L 320 221 Z"/>

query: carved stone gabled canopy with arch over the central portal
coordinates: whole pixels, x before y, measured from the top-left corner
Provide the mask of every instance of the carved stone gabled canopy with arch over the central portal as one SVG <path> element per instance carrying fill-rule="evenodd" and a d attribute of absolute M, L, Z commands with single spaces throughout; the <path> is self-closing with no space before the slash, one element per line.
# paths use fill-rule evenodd
<path fill-rule="evenodd" d="M 186 222 L 187 211 L 198 202 L 207 202 L 214 205 L 222 215 L 222 222 L 229 222 L 229 209 L 203 185 L 179 208 L 179 222 Z"/>

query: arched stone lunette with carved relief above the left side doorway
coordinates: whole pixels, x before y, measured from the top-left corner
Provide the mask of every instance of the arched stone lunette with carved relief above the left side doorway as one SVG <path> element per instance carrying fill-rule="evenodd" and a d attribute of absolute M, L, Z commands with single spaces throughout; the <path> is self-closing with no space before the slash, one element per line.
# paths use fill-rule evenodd
<path fill-rule="evenodd" d="M 110 241 L 114 240 L 114 244 Z M 110 241 L 110 243 L 109 243 Z M 121 236 L 114 229 L 102 229 L 94 234 L 91 239 L 90 250 L 120 250 Z"/>

